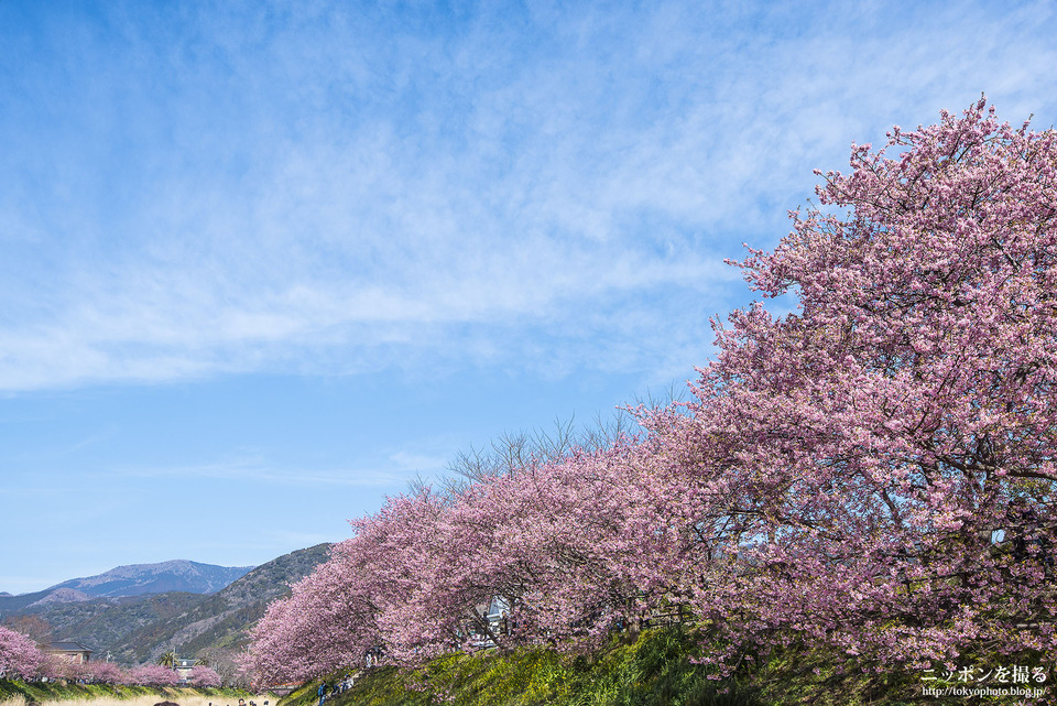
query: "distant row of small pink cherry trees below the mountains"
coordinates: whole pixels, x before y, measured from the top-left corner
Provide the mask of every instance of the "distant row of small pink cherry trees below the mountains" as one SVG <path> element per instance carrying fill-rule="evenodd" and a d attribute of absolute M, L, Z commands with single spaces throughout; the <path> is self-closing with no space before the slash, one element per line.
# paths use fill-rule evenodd
<path fill-rule="evenodd" d="M 176 686 L 179 674 L 160 664 L 124 669 L 112 662 L 73 662 L 40 650 L 29 637 L 0 626 L 0 678 L 35 681 L 68 680 L 87 684 L 138 684 Z M 192 686 L 220 686 L 220 676 L 206 665 L 192 669 L 187 683 Z"/>

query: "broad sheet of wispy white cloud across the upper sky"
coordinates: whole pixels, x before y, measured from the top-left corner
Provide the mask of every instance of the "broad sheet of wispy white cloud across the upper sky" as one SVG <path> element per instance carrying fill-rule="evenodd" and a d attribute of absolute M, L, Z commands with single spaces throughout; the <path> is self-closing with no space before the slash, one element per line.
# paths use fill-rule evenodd
<path fill-rule="evenodd" d="M 740 303 L 722 258 L 773 245 L 813 167 L 980 90 L 1057 107 L 1047 3 L 32 19 L 0 79 L 6 390 L 682 374 Z"/>

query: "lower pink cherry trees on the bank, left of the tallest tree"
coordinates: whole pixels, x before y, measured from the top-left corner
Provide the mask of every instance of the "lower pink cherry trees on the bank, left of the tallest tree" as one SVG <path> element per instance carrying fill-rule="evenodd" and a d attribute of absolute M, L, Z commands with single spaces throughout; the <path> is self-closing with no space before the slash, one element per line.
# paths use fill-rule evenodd
<path fill-rule="evenodd" d="M 481 644 L 568 645 L 631 624 L 664 598 L 658 579 L 688 542 L 683 503 L 664 491 L 673 468 L 646 447 L 625 439 L 457 495 L 390 499 L 270 607 L 253 633 L 258 676 L 312 678 L 378 650 L 415 662 Z"/>

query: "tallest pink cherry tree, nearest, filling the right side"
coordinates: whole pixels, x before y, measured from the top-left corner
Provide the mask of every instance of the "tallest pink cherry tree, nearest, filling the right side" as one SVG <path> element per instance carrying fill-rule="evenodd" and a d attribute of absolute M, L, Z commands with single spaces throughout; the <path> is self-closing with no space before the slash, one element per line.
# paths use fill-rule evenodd
<path fill-rule="evenodd" d="M 697 448 L 705 542 L 739 560 L 695 605 L 861 663 L 1051 650 L 1057 135 L 981 100 L 853 146 L 818 195 L 741 263 L 799 312 L 717 325 L 694 422 L 661 430 Z"/>

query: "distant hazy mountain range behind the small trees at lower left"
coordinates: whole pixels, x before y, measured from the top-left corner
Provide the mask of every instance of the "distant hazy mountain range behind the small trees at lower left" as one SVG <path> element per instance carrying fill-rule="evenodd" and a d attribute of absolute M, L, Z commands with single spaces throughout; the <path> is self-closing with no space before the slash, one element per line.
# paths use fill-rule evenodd
<path fill-rule="evenodd" d="M 268 604 L 326 561 L 329 550 L 318 544 L 257 568 L 187 561 L 119 566 L 34 594 L 0 595 L 0 621 L 17 629 L 20 621 L 43 621 L 51 639 L 80 642 L 96 659 L 109 653 L 111 661 L 139 664 L 175 649 L 221 666 L 227 652 L 247 643 L 247 630 Z"/>

